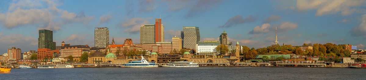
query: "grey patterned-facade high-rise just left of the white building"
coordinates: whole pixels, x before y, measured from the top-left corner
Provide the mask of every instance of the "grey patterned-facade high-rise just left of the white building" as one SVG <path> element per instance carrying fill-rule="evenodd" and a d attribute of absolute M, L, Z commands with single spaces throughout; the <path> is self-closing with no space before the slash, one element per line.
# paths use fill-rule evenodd
<path fill-rule="evenodd" d="M 189 48 L 196 50 L 196 44 L 200 40 L 199 27 L 183 27 L 183 31 L 180 32 L 183 39 L 183 48 Z"/>

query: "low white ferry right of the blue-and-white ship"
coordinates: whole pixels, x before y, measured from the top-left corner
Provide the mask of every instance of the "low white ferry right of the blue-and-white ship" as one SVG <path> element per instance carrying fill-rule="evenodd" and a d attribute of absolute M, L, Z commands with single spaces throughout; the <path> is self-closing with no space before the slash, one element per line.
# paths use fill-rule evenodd
<path fill-rule="evenodd" d="M 197 63 L 179 61 L 179 62 L 169 62 L 167 65 L 161 65 L 163 67 L 198 67 Z"/>

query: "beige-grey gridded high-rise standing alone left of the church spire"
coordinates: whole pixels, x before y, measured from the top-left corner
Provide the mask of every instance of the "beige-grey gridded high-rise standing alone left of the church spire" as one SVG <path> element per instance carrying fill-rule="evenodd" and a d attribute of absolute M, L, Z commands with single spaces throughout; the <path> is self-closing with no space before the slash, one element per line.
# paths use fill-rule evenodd
<path fill-rule="evenodd" d="M 94 30 L 94 47 L 107 47 L 109 44 L 109 30 L 107 27 L 96 27 Z"/>

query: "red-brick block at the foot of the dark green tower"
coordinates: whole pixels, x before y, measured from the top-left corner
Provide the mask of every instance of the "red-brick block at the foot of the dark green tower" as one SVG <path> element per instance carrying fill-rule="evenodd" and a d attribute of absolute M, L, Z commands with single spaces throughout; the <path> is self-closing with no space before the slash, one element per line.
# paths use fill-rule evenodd
<path fill-rule="evenodd" d="M 37 59 L 41 60 L 44 58 L 58 58 L 60 57 L 60 50 L 51 50 L 51 49 L 37 49 Z"/>

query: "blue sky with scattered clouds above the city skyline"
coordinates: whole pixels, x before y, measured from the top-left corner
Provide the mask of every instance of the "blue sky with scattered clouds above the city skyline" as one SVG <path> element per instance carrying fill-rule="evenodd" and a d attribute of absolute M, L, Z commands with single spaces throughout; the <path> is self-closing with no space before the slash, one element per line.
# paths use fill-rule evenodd
<path fill-rule="evenodd" d="M 37 50 L 38 30 L 61 45 L 94 45 L 95 27 L 108 27 L 116 44 L 139 43 L 139 27 L 161 18 L 165 41 L 183 26 L 199 27 L 201 41 L 261 48 L 303 43 L 366 45 L 365 0 L 1 0 L 0 54 L 15 46 Z M 110 41 L 112 42 L 112 41 Z"/>

